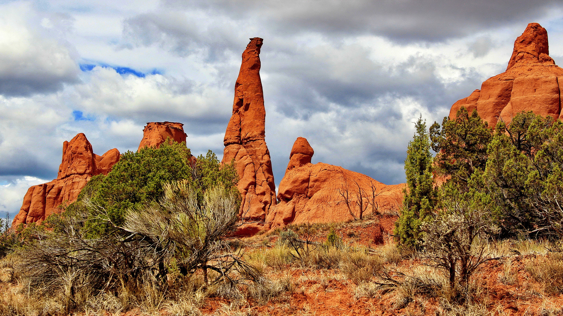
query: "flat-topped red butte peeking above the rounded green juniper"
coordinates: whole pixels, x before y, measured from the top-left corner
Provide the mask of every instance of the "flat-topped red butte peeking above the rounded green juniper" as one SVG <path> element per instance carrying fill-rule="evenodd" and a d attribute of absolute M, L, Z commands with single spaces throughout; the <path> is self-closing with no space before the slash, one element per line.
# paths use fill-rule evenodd
<path fill-rule="evenodd" d="M 151 122 L 146 123 L 143 131 L 143 138 L 139 144 L 137 151 L 144 147 L 156 147 L 166 141 L 170 137 L 178 143 L 186 141 L 186 133 L 184 133 L 184 124 L 173 122 Z"/>

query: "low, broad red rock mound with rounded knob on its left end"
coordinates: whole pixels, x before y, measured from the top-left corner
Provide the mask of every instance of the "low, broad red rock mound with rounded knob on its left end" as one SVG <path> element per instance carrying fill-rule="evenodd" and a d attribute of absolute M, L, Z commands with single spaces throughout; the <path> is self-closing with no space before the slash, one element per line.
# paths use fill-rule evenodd
<path fill-rule="evenodd" d="M 360 196 L 364 215 L 373 213 L 373 206 L 376 213 L 385 214 L 402 205 L 405 184 L 387 186 L 339 166 L 311 164 L 312 154 L 309 142 L 297 138 L 288 170 L 279 184 L 279 203 L 270 209 L 265 229 L 287 224 L 342 222 L 354 218 L 350 210 L 359 217 Z"/>

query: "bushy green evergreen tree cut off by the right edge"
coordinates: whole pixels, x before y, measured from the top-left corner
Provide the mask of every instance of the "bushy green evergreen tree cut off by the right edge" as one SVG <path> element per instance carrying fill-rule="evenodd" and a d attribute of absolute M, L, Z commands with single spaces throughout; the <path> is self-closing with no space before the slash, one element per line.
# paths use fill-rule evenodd
<path fill-rule="evenodd" d="M 563 122 L 520 112 L 497 124 L 485 169 L 504 234 L 563 235 Z"/>

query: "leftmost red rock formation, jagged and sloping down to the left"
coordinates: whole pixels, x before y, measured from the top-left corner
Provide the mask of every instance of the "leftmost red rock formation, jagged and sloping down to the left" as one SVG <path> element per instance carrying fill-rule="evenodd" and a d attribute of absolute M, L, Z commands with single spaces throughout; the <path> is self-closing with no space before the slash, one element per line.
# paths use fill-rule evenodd
<path fill-rule="evenodd" d="M 108 174 L 118 160 L 119 151 L 116 148 L 102 156 L 94 154 L 92 145 L 82 133 L 77 134 L 70 142 L 65 141 L 62 144 L 62 162 L 57 178 L 28 189 L 12 227 L 22 223 L 41 222 L 56 213 L 62 202 L 74 202 L 92 176 Z"/>

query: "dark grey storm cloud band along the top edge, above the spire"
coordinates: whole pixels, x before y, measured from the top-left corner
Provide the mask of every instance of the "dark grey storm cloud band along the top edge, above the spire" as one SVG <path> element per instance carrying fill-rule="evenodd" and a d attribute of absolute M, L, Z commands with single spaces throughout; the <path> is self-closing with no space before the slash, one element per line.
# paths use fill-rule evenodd
<path fill-rule="evenodd" d="M 537 19 L 561 9 L 558 1 L 164 1 L 165 7 L 217 12 L 237 20 L 267 21 L 276 33 L 381 35 L 397 42 L 436 42 Z"/>

